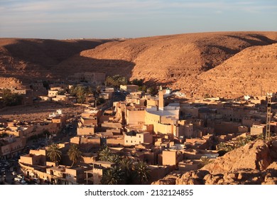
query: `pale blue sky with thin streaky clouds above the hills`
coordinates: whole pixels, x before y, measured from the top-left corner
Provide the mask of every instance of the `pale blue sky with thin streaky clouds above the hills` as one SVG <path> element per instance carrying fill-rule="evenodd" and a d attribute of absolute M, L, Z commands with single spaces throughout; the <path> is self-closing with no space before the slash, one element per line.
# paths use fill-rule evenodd
<path fill-rule="evenodd" d="M 0 37 L 277 31 L 277 0 L 0 0 Z"/>

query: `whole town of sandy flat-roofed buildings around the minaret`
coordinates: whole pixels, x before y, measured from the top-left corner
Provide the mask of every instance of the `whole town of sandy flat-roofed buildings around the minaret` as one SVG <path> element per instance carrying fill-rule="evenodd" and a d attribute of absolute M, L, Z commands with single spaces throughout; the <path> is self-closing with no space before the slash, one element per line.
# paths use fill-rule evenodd
<path fill-rule="evenodd" d="M 151 184 L 277 133 L 276 91 L 191 98 L 77 72 L 0 93 L 2 184 Z"/>

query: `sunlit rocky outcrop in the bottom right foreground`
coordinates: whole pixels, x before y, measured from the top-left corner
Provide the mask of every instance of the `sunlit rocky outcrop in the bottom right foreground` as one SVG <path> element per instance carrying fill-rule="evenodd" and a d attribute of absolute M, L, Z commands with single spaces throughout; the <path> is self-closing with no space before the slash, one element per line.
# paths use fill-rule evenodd
<path fill-rule="evenodd" d="M 152 184 L 277 184 L 277 141 L 252 141 L 197 171 L 171 173 Z"/>

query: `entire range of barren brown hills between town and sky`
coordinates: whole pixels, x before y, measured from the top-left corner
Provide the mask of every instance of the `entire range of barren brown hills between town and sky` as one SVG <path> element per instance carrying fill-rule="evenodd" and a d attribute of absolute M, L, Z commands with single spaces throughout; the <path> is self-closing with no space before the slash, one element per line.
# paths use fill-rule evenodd
<path fill-rule="evenodd" d="M 260 95 L 277 91 L 276 43 L 277 32 L 187 33 L 125 41 L 2 38 L 0 77 L 26 82 L 31 75 L 45 79 L 107 72 L 180 89 L 188 97 Z"/>

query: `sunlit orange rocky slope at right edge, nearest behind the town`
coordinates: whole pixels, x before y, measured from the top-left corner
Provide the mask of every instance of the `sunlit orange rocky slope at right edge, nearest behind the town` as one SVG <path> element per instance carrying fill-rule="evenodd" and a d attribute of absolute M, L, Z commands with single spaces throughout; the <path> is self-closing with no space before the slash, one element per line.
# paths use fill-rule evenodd
<path fill-rule="evenodd" d="M 277 44 L 241 50 L 221 65 L 203 72 L 197 93 L 238 97 L 277 91 Z"/>

